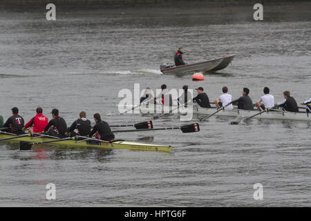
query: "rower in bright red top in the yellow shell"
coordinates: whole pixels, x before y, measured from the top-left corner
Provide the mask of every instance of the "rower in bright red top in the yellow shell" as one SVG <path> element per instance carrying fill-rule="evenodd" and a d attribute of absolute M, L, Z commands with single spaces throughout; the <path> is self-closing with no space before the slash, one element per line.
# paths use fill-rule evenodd
<path fill-rule="evenodd" d="M 32 117 L 30 121 L 23 127 L 23 131 L 26 131 L 28 128 L 29 133 L 41 133 L 48 125 L 48 117 L 45 117 L 42 113 L 42 108 L 38 107 L 36 109 L 37 115 Z"/>

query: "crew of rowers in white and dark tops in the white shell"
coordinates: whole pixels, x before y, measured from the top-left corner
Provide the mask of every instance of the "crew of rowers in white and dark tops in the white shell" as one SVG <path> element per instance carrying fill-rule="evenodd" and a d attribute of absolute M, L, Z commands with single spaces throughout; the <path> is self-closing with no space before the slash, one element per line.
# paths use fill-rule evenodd
<path fill-rule="evenodd" d="M 154 100 L 154 104 L 161 104 L 164 106 L 172 106 L 172 97 L 169 93 L 169 90 L 167 89 L 167 86 L 165 84 L 162 84 L 161 86 L 162 91 L 160 95 L 157 97 L 152 97 L 151 95 L 151 89 L 146 88 L 146 94 L 140 98 L 140 103 L 147 103 L 151 102 L 151 100 Z M 185 105 L 187 106 L 187 103 L 191 101 L 189 98 L 191 98 L 191 94 L 188 91 L 188 86 L 185 85 L 182 87 L 184 90 L 184 93 L 180 97 L 178 97 L 178 105 Z M 209 97 L 204 92 L 204 88 L 198 87 L 196 88 L 198 95 L 192 99 L 193 102 L 196 102 L 196 106 L 199 106 L 201 108 L 211 108 L 211 104 L 209 102 Z M 299 112 L 299 107 L 296 103 L 296 100 L 294 97 L 290 96 L 290 91 L 285 90 L 283 92 L 284 100 L 282 102 L 277 102 L 275 104 L 274 102 L 274 96 L 270 95 L 270 89 L 265 87 L 263 88 L 264 95 L 258 99 L 256 102 L 256 108 L 258 111 L 264 111 L 266 109 L 274 108 L 274 107 L 281 107 L 284 111 L 288 112 Z M 241 110 L 249 110 L 254 111 L 254 104 L 252 102 L 252 99 L 249 97 L 249 88 L 243 88 L 242 96 L 238 99 L 232 100 L 232 95 L 228 93 L 227 86 L 223 87 L 223 94 L 220 95 L 218 98 L 215 99 L 216 108 L 224 108 L 225 110 L 232 110 L 233 106 L 232 104 L 237 104 L 238 109 Z M 305 104 L 306 113 L 311 112 L 311 99 L 308 99 L 307 101 L 301 103 L 301 105 Z M 273 109 L 272 109 L 273 110 Z"/>

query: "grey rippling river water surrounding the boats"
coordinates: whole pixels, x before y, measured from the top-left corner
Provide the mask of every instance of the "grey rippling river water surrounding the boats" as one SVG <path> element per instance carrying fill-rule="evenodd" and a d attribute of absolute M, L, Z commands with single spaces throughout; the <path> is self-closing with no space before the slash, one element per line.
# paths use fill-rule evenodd
<path fill-rule="evenodd" d="M 135 83 L 141 90 L 202 86 L 211 100 L 223 86 L 234 98 L 248 87 L 253 102 L 268 86 L 276 101 L 290 90 L 301 103 L 310 98 L 310 8 L 307 2 L 265 6 L 264 21 L 252 20 L 252 6 L 57 6 L 56 21 L 46 21 L 45 8 L 1 8 L 0 113 L 7 119 L 17 106 L 28 121 L 41 106 L 49 118 L 59 108 L 67 124 L 80 111 L 92 122 L 97 112 L 110 124 L 142 122 L 150 118 L 119 115 L 116 107 L 119 91 Z M 180 46 L 188 64 L 236 57 L 205 81 L 161 75 L 160 64 L 171 62 Z M 1 143 L 0 206 L 311 206 L 311 124 L 228 121 L 211 117 L 199 133 L 117 134 L 171 145 L 171 153 L 19 151 Z M 166 117 L 153 124 L 185 122 Z M 56 200 L 46 200 L 48 183 L 56 186 Z M 263 200 L 253 198 L 256 183 L 263 185 Z"/>

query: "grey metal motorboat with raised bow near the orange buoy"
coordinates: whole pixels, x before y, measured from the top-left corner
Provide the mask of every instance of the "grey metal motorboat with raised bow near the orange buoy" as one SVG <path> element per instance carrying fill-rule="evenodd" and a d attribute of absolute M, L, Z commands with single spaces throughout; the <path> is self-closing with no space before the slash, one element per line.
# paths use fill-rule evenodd
<path fill-rule="evenodd" d="M 216 71 L 227 68 L 236 55 L 220 57 L 209 61 L 202 61 L 194 64 L 185 64 L 181 66 L 173 66 L 171 68 L 160 68 L 161 72 L 166 75 L 187 74 L 196 72 Z"/>

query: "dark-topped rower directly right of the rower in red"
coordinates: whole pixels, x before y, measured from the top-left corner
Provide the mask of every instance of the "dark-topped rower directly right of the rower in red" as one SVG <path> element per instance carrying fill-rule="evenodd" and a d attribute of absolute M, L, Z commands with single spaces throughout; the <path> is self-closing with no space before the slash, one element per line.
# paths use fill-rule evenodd
<path fill-rule="evenodd" d="M 51 112 L 53 119 L 48 122 L 48 125 L 46 128 L 44 128 L 44 132 L 48 131 L 48 135 L 53 137 L 67 137 L 66 131 L 67 131 L 67 125 L 64 120 L 64 118 L 59 117 L 59 111 L 54 108 Z"/>

